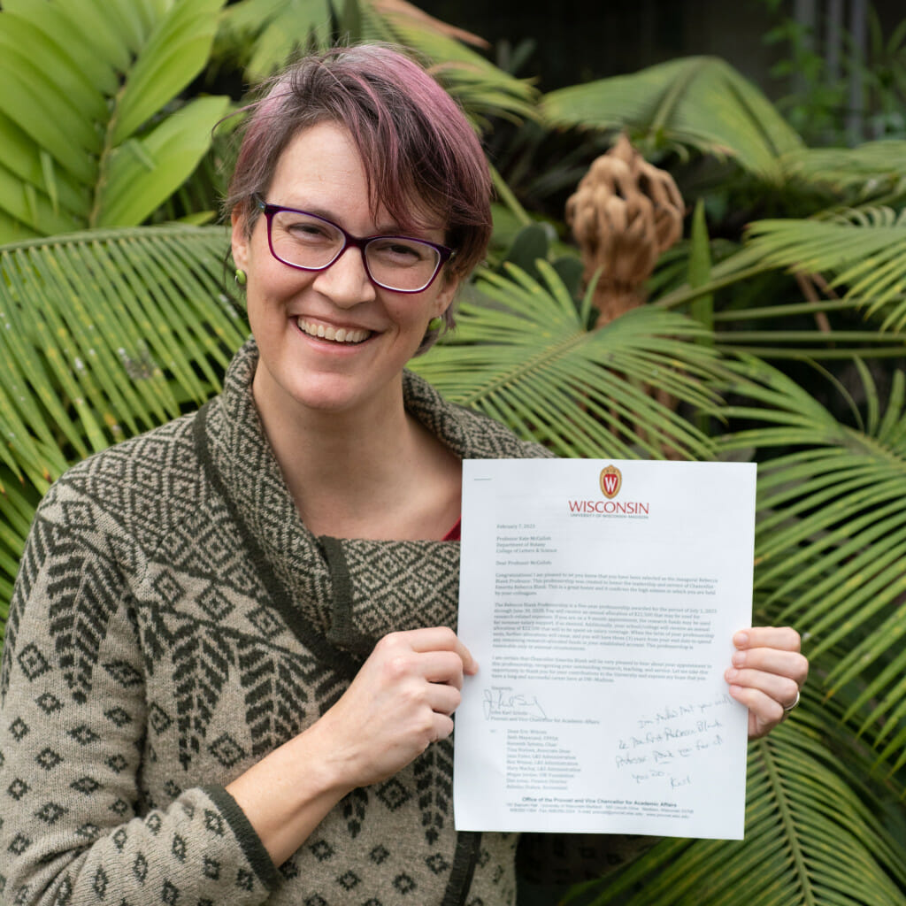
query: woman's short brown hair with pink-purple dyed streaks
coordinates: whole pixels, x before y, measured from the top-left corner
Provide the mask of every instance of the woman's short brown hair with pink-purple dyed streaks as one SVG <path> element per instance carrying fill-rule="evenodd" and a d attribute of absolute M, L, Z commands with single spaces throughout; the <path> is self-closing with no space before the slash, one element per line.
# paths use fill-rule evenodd
<path fill-rule="evenodd" d="M 299 131 L 333 121 L 352 135 L 369 178 L 373 212 L 385 207 L 400 227 L 447 230 L 461 279 L 483 259 L 491 235 L 491 180 L 475 131 L 438 82 L 381 44 L 333 48 L 304 57 L 265 85 L 250 114 L 225 208 L 250 234 L 284 149 Z M 452 326 L 452 315 L 448 319 Z"/>

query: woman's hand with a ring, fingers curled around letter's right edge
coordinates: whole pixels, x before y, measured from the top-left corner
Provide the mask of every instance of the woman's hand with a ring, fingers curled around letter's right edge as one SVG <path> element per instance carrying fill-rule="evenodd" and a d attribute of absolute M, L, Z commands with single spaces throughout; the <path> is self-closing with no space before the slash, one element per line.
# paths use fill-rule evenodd
<path fill-rule="evenodd" d="M 730 695 L 748 708 L 748 737 L 766 736 L 798 704 L 808 676 L 799 633 L 788 626 L 740 630 L 733 666 L 724 674 Z"/>

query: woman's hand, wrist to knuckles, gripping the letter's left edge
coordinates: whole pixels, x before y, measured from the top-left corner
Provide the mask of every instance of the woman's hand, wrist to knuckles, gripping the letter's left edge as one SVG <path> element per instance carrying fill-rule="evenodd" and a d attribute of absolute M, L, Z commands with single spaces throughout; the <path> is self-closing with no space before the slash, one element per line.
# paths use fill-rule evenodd
<path fill-rule="evenodd" d="M 322 737 L 344 786 L 396 774 L 453 731 L 464 675 L 477 663 L 447 627 L 391 632 L 342 698 L 307 733 Z"/>

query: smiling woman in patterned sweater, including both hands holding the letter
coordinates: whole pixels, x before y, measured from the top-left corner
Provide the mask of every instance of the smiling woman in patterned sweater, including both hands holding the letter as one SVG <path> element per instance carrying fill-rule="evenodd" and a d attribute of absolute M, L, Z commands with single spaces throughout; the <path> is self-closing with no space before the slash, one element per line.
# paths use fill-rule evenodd
<path fill-rule="evenodd" d="M 35 517 L 0 680 L 8 901 L 514 901 L 516 835 L 453 828 L 478 668 L 451 541 L 462 458 L 548 454 L 403 371 L 452 323 L 489 197 L 398 53 L 307 58 L 255 105 L 227 199 L 254 340 L 221 396 Z M 797 700 L 798 650 L 737 639 L 751 736 Z"/>

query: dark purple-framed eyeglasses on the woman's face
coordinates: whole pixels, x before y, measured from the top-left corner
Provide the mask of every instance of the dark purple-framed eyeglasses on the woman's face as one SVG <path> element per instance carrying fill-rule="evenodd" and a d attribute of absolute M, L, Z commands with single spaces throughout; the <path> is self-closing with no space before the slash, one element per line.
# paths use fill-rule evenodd
<path fill-rule="evenodd" d="M 342 226 L 308 211 L 269 205 L 257 192 L 252 200 L 267 220 L 271 255 L 302 271 L 323 271 L 349 246 L 355 246 L 371 283 L 395 293 L 420 293 L 455 254 L 452 248 L 410 236 L 352 236 Z"/>

